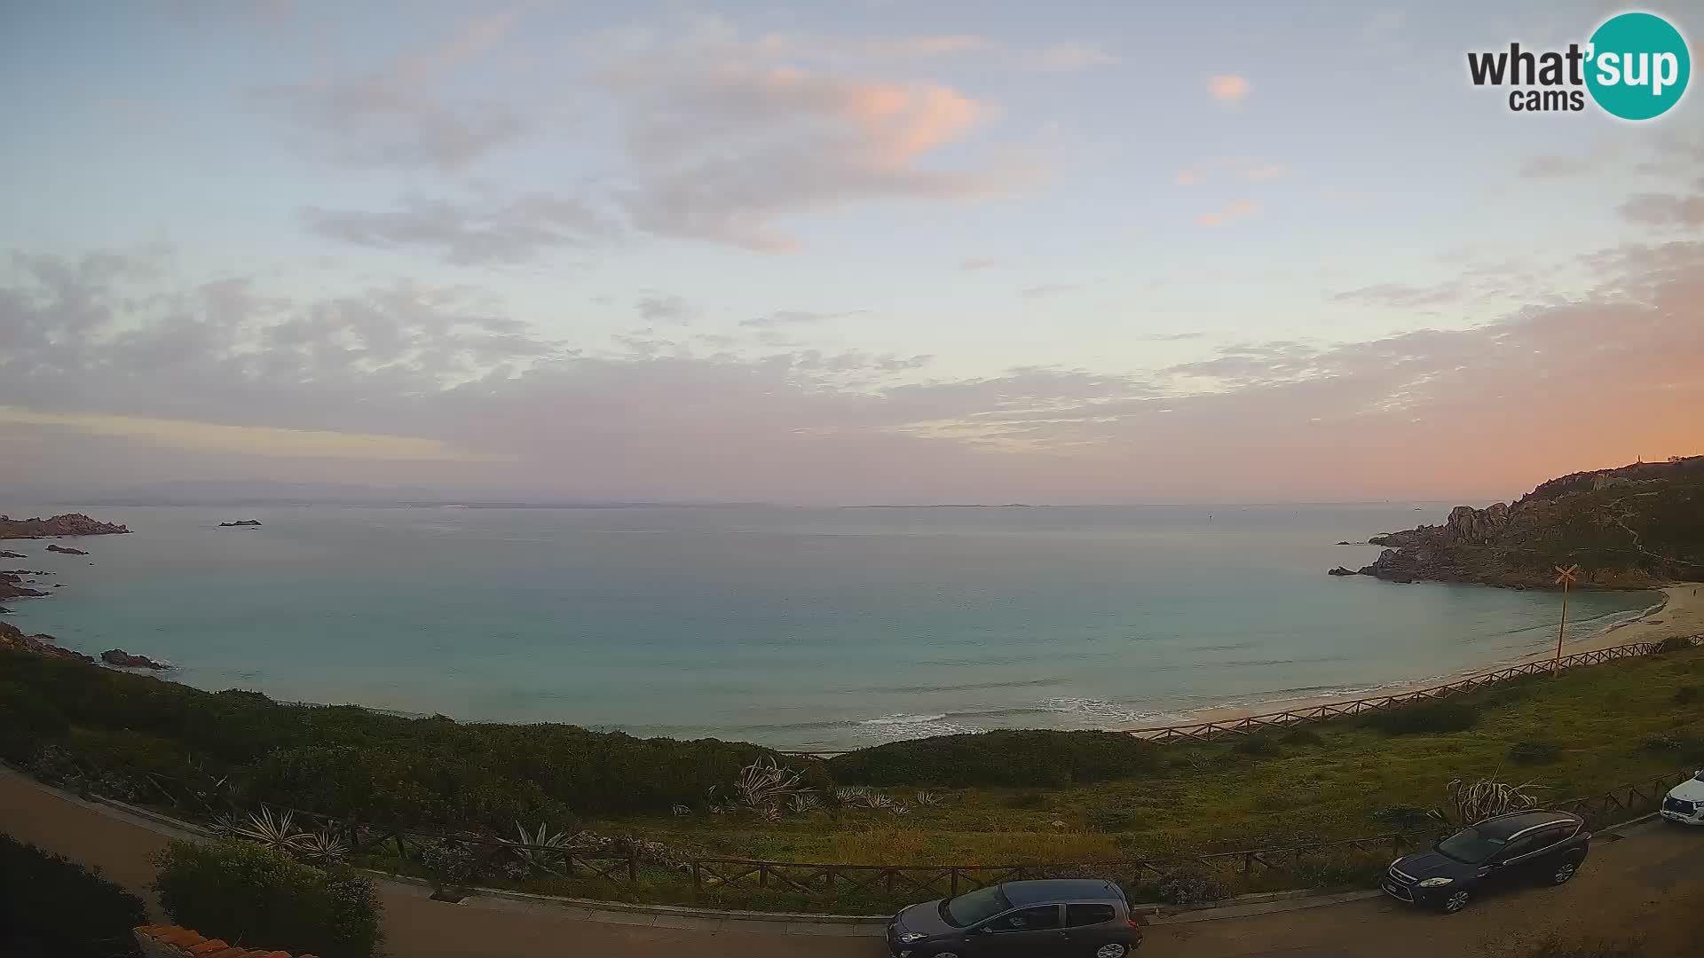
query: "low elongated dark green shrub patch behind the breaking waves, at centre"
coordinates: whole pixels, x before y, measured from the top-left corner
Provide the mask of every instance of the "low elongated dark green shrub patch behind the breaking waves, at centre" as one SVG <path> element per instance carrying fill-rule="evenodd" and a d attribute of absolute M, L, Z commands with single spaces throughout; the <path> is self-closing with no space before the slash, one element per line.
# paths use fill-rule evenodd
<path fill-rule="evenodd" d="M 835 755 L 840 782 L 884 786 L 1062 786 L 1157 767 L 1159 747 L 1116 731 L 1002 730 L 889 742 Z"/>

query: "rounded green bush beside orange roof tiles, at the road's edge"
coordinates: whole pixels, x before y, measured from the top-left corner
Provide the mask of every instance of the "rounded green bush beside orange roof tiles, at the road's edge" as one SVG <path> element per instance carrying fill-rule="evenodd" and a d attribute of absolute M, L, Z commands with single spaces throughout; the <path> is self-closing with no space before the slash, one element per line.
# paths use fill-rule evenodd
<path fill-rule="evenodd" d="M 252 842 L 172 842 L 153 890 L 172 920 L 233 946 L 368 958 L 378 900 L 360 874 L 302 864 Z"/>

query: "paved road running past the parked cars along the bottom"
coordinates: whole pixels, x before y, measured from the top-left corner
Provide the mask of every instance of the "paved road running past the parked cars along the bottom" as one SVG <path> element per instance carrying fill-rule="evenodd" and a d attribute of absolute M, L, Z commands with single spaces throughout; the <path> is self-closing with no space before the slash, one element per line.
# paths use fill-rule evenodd
<path fill-rule="evenodd" d="M 0 830 L 101 866 L 147 893 L 148 857 L 165 835 L 150 823 L 60 798 L 0 772 Z M 1563 888 L 1530 888 L 1486 898 L 1459 915 L 1416 914 L 1384 900 L 1353 902 L 1246 919 L 1155 926 L 1143 958 L 1436 958 L 1476 955 L 1511 932 L 1544 929 L 1617 934 L 1651 931 L 1665 900 L 1704 902 L 1704 828 L 1639 825 L 1626 840 L 1600 839 L 1580 878 Z M 474 900 L 433 902 L 421 888 L 382 883 L 389 951 L 397 958 L 879 958 L 871 938 L 719 931 L 584 920 L 584 912 Z M 152 900 L 150 900 L 152 903 Z M 1670 909 L 1673 912 L 1673 909 Z M 1695 914 L 1690 915 L 1695 920 Z M 634 922 L 656 922 L 632 915 Z M 661 919 L 666 920 L 666 919 Z M 1661 920 L 1673 920 L 1668 914 Z"/>

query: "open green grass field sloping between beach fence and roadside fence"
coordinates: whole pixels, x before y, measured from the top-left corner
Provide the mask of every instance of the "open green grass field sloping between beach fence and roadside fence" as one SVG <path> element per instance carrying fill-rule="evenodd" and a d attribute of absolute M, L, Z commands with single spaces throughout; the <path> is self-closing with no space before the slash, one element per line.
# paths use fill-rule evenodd
<path fill-rule="evenodd" d="M 857 810 L 780 823 L 692 815 L 591 825 L 779 861 L 1113 861 L 1394 832 L 1440 805 L 1455 777 L 1530 781 L 1540 796 L 1568 799 L 1704 762 L 1701 649 L 1528 677 L 1450 704 L 1459 707 L 1440 724 L 1471 728 L 1392 735 L 1365 718 L 1333 719 L 1254 742 L 1164 747 L 1155 770 L 1120 781 L 934 788 L 944 805 L 913 799 L 903 817 Z M 915 788 L 889 791 L 910 799 Z"/>

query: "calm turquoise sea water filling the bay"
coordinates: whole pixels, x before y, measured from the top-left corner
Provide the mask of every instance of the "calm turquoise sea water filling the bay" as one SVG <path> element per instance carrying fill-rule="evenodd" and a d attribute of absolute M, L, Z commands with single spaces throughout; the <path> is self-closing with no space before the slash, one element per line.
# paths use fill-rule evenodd
<path fill-rule="evenodd" d="M 10 506 L 10 505 L 9 505 Z M 3 511 L 34 515 L 66 506 Z M 10 620 L 177 680 L 840 748 L 1164 723 L 1542 651 L 1557 597 L 1331 578 L 1447 506 L 87 508 Z M 261 528 L 216 528 L 259 518 Z M 1574 638 L 1651 593 L 1580 593 Z"/>

